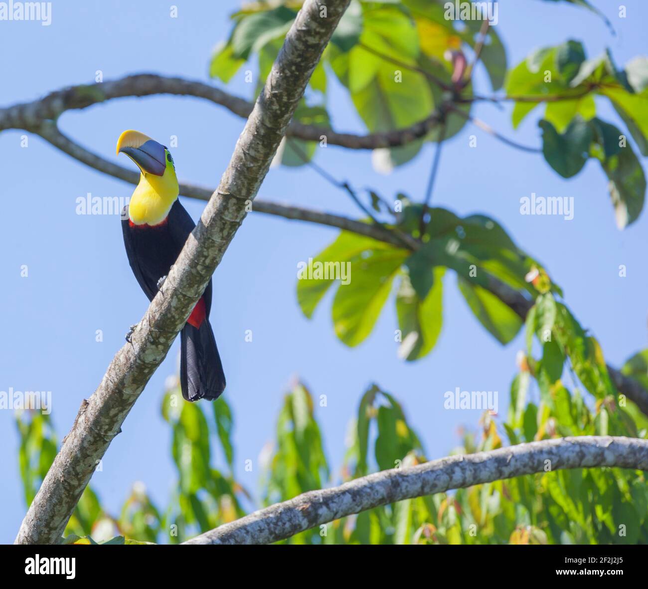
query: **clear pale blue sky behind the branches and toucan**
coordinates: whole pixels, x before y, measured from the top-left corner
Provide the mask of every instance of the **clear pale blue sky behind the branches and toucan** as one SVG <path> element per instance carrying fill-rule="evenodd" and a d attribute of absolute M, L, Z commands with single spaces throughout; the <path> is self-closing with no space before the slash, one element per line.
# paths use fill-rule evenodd
<path fill-rule="evenodd" d="M 97 70 L 104 80 L 155 72 L 207 81 L 211 49 L 226 38 L 228 16 L 238 1 L 176 5 L 174 19 L 169 18 L 167 3 L 54 1 L 49 27 L 0 22 L 0 106 L 31 101 L 69 84 L 91 83 Z M 588 56 L 610 47 L 619 66 L 645 51 L 645 3 L 626 1 L 625 19 L 618 18 L 616 3 L 596 5 L 606 12 L 617 36 L 587 10 L 538 0 L 500 2 L 497 27 L 509 64 L 517 64 L 536 47 L 568 38 L 581 40 Z M 478 89 L 490 91 L 483 71 L 477 80 Z M 228 90 L 250 98 L 252 86 L 239 73 Z M 619 125 L 608 104 L 601 101 L 598 106 L 600 117 Z M 364 130 L 337 84 L 330 91 L 329 112 L 336 129 Z M 514 132 L 510 105 L 500 111 L 477 104 L 474 110 L 526 145 L 540 145 L 540 112 L 529 115 Z M 224 108 L 182 97 L 120 99 L 67 112 L 60 119 L 66 134 L 111 160 L 126 128 L 163 143 L 176 135 L 179 178 L 204 186 L 218 184 L 243 125 Z M 128 267 L 119 217 L 75 213 L 76 198 L 88 192 L 128 197 L 132 186 L 84 167 L 36 136 L 29 135 L 29 147 L 21 148 L 23 134 L 0 134 L 0 247 L 5 252 L 0 257 L 5 333 L 0 340 L 0 391 L 52 391 L 52 418 L 61 439 L 148 302 Z M 469 148 L 470 134 L 478 137 L 476 149 Z M 319 150 L 317 162 L 336 177 L 358 187 L 376 187 L 390 199 L 402 191 L 420 200 L 432 154 L 427 145 L 416 160 L 390 176 L 371 169 L 368 152 L 329 147 Z M 126 158 L 120 160 L 130 165 Z M 573 220 L 520 215 L 520 197 L 533 192 L 574 197 Z M 272 169 L 259 197 L 357 216 L 343 192 L 308 168 Z M 581 324 L 601 341 L 609 363 L 620 366 L 645 348 L 648 217 L 644 212 L 627 230 L 616 229 L 607 180 L 595 162 L 564 180 L 541 156 L 511 149 L 467 127 L 444 148 L 433 200 L 461 215 L 482 212 L 502 222 L 522 248 L 548 267 Z M 202 202 L 184 199 L 183 204 L 198 218 Z M 313 394 L 328 397 L 327 407 L 316 411 L 336 468 L 349 419 L 372 382 L 402 401 L 428 458 L 446 455 L 458 441 L 457 427 L 474 427 L 480 416 L 480 411 L 444 411 L 445 391 L 499 391 L 500 413 L 505 411 L 522 336 L 508 346 L 496 343 L 472 317 L 451 273 L 445 282 L 443 333 L 432 354 L 416 363 L 396 357 L 391 303 L 371 337 L 354 349 L 334 335 L 330 296 L 314 319 L 303 317 L 295 297 L 297 262 L 319 252 L 335 236 L 330 228 L 252 214 L 214 275 L 211 322 L 226 370 L 227 401 L 235 415 L 237 476 L 253 490 L 258 488 L 259 452 L 273 438 L 275 416 L 295 375 Z M 24 264 L 29 266 L 28 278 L 20 276 Z M 618 276 L 620 264 L 627 266 L 626 278 Z M 95 342 L 98 329 L 104 334 L 101 343 Z M 245 341 L 246 330 L 253 331 L 251 343 Z M 103 472 L 92 479 L 109 511 L 117 512 L 133 481 L 143 481 L 158 505 L 168 500 L 176 475 L 170 431 L 159 406 L 165 378 L 176 372 L 178 348 L 176 342 L 128 416 L 123 433 L 111 444 Z M 25 505 L 11 411 L 0 411 L 0 448 L 0 542 L 12 542 Z M 251 473 L 244 471 L 246 459 L 255 465 Z"/>

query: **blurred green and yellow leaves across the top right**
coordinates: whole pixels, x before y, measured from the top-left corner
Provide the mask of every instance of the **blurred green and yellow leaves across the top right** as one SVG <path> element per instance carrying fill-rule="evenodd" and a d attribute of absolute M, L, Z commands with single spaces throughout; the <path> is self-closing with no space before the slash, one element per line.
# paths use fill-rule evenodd
<path fill-rule="evenodd" d="M 584 0 L 564 1 L 605 19 Z M 229 38 L 214 49 L 209 75 L 227 83 L 244 64 L 257 63 L 253 88 L 255 95 L 259 93 L 301 4 L 295 0 L 244 3 L 231 15 Z M 483 99 L 483 92 L 474 96 L 478 93 L 472 88 L 472 66 L 461 84 L 453 82 L 448 56 L 456 51 L 474 54 L 482 23 L 448 19 L 445 5 L 443 0 L 352 0 L 312 75 L 295 120 L 330 126 L 327 90 L 331 76 L 348 92 L 369 132 L 406 128 L 450 103 L 469 114 L 474 100 Z M 509 67 L 499 30 L 491 27 L 487 31 L 480 61 L 492 91 L 504 91 L 493 95 L 494 99 L 513 102 L 513 127 L 544 104 L 539 126 L 542 153 L 549 165 L 569 178 L 588 159 L 598 160 L 608 178 L 619 228 L 635 221 L 643 208 L 646 181 L 627 136 L 634 139 L 643 156 L 648 155 L 648 57 L 637 56 L 618 69 L 608 49 L 587 59 L 582 43 L 567 40 L 537 49 Z M 247 69 L 246 81 L 252 81 L 251 75 Z M 627 132 L 596 118 L 597 100 L 612 104 Z M 449 112 L 445 139 L 457 134 L 466 122 L 465 116 Z M 408 145 L 376 149 L 374 167 L 389 173 L 415 158 L 427 141 L 438 141 L 439 132 L 437 127 Z M 297 166 L 314 157 L 316 143 L 290 143 L 283 143 L 275 162 Z"/>

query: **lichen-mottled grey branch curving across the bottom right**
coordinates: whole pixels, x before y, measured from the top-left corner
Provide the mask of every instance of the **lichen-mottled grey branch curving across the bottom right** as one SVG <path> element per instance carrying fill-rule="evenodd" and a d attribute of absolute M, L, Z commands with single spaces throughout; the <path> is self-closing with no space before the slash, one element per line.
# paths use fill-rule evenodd
<path fill-rule="evenodd" d="M 648 470 L 648 440 L 583 436 L 542 440 L 383 470 L 226 523 L 184 544 L 270 544 L 378 505 L 520 475 L 615 466 Z"/>

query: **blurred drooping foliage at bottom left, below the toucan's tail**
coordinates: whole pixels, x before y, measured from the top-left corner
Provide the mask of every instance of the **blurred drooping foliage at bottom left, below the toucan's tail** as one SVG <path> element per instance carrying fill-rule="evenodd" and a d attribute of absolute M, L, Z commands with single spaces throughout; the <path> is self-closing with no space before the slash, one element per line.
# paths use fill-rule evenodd
<path fill-rule="evenodd" d="M 102 508 L 97 494 L 88 486 L 65 528 L 69 542 L 96 544 L 97 539 L 112 539 L 111 544 L 137 544 L 135 540 L 179 544 L 244 515 L 240 499 L 249 500 L 249 494 L 232 473 L 233 422 L 229 406 L 222 397 L 205 403 L 211 413 L 208 418 L 200 405 L 182 400 L 177 379 L 173 380 L 174 385 L 162 401 L 162 415 L 171 429 L 172 460 L 178 470 L 168 507 L 156 507 L 144 483 L 136 482 L 119 516 L 113 516 Z M 25 503 L 29 505 L 56 455 L 56 437 L 50 416 L 34 411 L 18 415 L 17 427 L 20 472 Z M 212 442 L 222 450 L 227 472 L 214 468 Z M 96 470 L 102 470 L 101 463 Z"/>

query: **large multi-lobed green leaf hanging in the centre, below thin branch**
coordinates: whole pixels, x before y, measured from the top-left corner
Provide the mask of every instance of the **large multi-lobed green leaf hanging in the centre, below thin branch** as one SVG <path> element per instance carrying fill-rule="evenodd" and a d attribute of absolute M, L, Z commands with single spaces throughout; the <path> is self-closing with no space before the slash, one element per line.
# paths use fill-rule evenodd
<path fill-rule="evenodd" d="M 421 237 L 422 246 L 417 251 L 341 232 L 312 258 L 308 274 L 297 280 L 297 301 L 309 319 L 327 290 L 340 283 L 333 298 L 332 320 L 336 335 L 347 346 L 356 346 L 369 336 L 395 291 L 397 353 L 408 361 L 428 354 L 441 333 L 443 280 L 448 269 L 456 272 L 459 291 L 476 319 L 502 344 L 517 335 L 522 320 L 491 293 L 492 278 L 522 296 L 546 291 L 562 294 L 540 262 L 518 248 L 491 217 L 461 218 L 433 207 L 427 210 L 429 222 L 421 235 L 422 206 L 399 194 L 397 208 L 394 227 Z M 336 264 L 348 265 L 349 283 L 342 283 Z M 393 289 L 395 281 L 398 285 Z"/>

